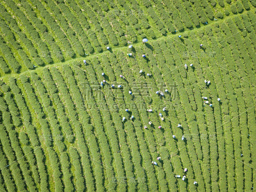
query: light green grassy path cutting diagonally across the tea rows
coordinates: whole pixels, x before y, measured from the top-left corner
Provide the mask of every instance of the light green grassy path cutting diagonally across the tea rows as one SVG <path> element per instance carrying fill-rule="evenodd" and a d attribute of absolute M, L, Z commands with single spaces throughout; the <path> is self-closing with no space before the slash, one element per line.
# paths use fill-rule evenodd
<path fill-rule="evenodd" d="M 254 11 L 255 10 L 255 7 L 252 7 L 249 11 Z M 242 13 L 239 13 L 239 14 L 244 14 L 244 13 L 246 13 L 247 11 L 246 10 L 244 10 Z M 199 31 L 199 30 L 202 30 L 202 29 L 204 29 L 206 26 L 212 26 L 214 23 L 219 23 L 219 21 L 220 22 L 225 22 L 228 18 L 233 18 L 233 17 L 235 17 L 236 15 L 239 15 L 239 14 L 233 14 L 233 13 L 230 13 L 230 15 L 229 16 L 225 16 L 224 17 L 224 19 L 219 19 L 218 18 L 218 21 L 210 21 L 209 23 L 208 23 L 208 25 L 207 24 L 203 24 L 203 25 L 200 25 L 200 27 L 198 27 L 198 28 L 192 28 L 192 29 L 185 29 L 185 30 L 183 30 L 182 32 L 177 32 L 177 33 L 168 33 L 166 36 L 161 36 L 161 37 L 158 37 L 158 38 L 156 38 L 156 39 L 150 39 L 149 40 L 149 44 L 150 44 L 150 42 L 152 42 L 152 41 L 159 41 L 159 40 L 161 40 L 161 39 L 166 39 L 166 38 L 171 38 L 171 37 L 174 37 L 174 36 L 178 36 L 178 35 L 182 35 L 182 34 L 185 34 L 185 33 L 187 33 L 187 34 L 191 34 L 192 32 L 195 32 L 195 31 Z M 180 42 L 178 42 L 177 41 L 177 43 L 180 43 Z M 141 41 L 140 42 L 137 42 L 137 43 L 133 43 L 132 44 L 133 45 L 133 47 L 136 47 L 136 46 L 138 46 L 138 45 L 141 45 Z M 114 47 L 114 48 L 111 48 L 111 52 L 115 52 L 115 51 L 118 51 L 118 50 L 122 50 L 123 52 L 125 52 L 125 49 L 128 49 L 128 45 L 127 46 L 123 46 L 123 47 Z M 108 53 L 109 51 L 108 50 L 106 50 L 106 51 L 103 51 L 103 52 L 100 52 L 100 53 L 95 53 L 95 54 L 90 54 L 89 56 L 86 56 L 86 57 L 77 57 L 77 58 L 75 58 L 75 59 L 70 59 L 70 60 L 66 60 L 66 61 L 64 61 L 64 62 L 58 62 L 58 63 L 53 63 L 53 64 L 48 64 L 48 65 L 44 65 L 44 66 L 39 66 L 39 67 L 36 67 L 36 68 L 34 68 L 34 69 L 28 69 L 28 70 L 26 70 L 26 71 L 21 71 L 20 73 L 18 73 L 18 74 L 16 74 L 16 73 L 10 73 L 10 74 L 5 74 L 4 76 L 2 76 L 1 77 L 1 79 L 3 79 L 3 81 L 6 81 L 6 80 L 8 80 L 8 78 L 9 77 L 17 77 L 17 76 L 19 76 L 19 75 L 21 75 L 21 74 L 25 74 L 25 73 L 27 73 L 27 72 L 30 72 L 30 71 L 35 71 L 35 72 L 37 72 L 37 73 L 41 73 L 41 71 L 42 71 L 42 69 L 43 68 L 45 68 L 45 67 L 53 67 L 53 66 L 56 66 L 56 67 L 58 67 L 58 66 L 61 66 L 61 65 L 63 65 L 63 64 L 68 64 L 68 63 L 70 63 L 70 62 L 74 62 L 74 61 L 82 61 L 82 60 L 90 60 L 92 57 L 95 57 L 95 56 L 101 56 L 101 55 L 103 55 L 103 54 L 106 54 L 106 53 Z"/>

